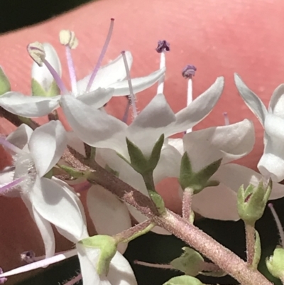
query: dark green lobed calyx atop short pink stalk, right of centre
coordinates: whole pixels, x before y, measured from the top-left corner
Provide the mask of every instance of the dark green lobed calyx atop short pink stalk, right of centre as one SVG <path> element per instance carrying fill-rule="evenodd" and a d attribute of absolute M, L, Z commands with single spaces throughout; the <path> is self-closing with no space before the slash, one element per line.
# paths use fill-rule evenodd
<path fill-rule="evenodd" d="M 209 178 L 218 170 L 222 159 L 212 162 L 198 172 L 192 171 L 190 158 L 187 152 L 183 154 L 180 163 L 180 186 L 182 190 L 191 188 L 194 194 L 200 193 L 206 187 L 217 186 L 219 181 L 209 181 Z"/>

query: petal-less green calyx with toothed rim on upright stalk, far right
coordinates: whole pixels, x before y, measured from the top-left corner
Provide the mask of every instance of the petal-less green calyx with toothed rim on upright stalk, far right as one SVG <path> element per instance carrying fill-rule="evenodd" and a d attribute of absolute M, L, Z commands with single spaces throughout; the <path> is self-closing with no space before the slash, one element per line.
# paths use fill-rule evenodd
<path fill-rule="evenodd" d="M 268 185 L 263 185 L 263 181 L 258 183 L 258 186 L 249 185 L 246 190 L 244 185 L 238 190 L 238 212 L 241 220 L 254 225 L 260 219 L 266 208 L 269 196 L 271 195 L 272 181 Z"/>

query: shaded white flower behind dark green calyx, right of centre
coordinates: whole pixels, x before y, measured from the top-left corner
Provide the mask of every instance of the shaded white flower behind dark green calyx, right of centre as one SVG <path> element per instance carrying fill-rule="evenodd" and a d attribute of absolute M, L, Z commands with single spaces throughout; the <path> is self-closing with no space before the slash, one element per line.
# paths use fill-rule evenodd
<path fill-rule="evenodd" d="M 249 184 L 258 185 L 262 176 L 250 168 L 230 162 L 246 156 L 253 149 L 253 123 L 244 119 L 228 126 L 193 131 L 185 134 L 183 139 L 170 139 L 168 143 L 180 151 L 180 156 L 187 151 L 194 172 L 222 158 L 222 165 L 210 179 L 219 181 L 219 185 L 204 188 L 193 195 L 192 210 L 217 220 L 239 220 L 236 208 L 239 187 L 243 184 L 245 188 Z M 173 156 L 172 159 L 177 158 Z M 271 199 L 283 196 L 284 185 L 273 183 Z"/>

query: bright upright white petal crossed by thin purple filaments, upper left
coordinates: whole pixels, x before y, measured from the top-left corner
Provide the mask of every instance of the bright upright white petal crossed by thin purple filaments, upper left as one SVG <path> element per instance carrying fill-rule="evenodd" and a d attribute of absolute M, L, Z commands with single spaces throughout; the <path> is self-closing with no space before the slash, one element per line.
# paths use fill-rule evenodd
<path fill-rule="evenodd" d="M 129 51 L 126 51 L 125 56 L 130 69 L 133 61 L 132 55 Z M 84 92 L 86 90 L 90 77 L 91 75 L 88 75 L 77 82 L 77 87 L 80 92 Z M 107 65 L 99 68 L 94 82 L 92 83 L 91 90 L 96 90 L 99 87 L 107 88 L 109 85 L 115 82 L 124 80 L 125 77 L 126 70 L 124 66 L 124 59 L 122 58 L 122 55 L 119 55 L 119 57 L 117 57 L 115 60 L 112 60 Z"/>

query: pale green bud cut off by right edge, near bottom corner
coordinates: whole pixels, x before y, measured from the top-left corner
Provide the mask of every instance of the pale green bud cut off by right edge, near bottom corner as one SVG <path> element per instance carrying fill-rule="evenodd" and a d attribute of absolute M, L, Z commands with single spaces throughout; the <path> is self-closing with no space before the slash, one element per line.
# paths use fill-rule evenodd
<path fill-rule="evenodd" d="M 284 278 L 284 249 L 276 247 L 273 255 L 266 259 L 266 266 L 269 272 L 276 278 Z"/>

